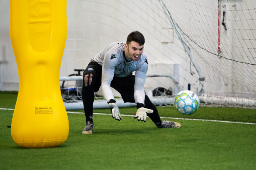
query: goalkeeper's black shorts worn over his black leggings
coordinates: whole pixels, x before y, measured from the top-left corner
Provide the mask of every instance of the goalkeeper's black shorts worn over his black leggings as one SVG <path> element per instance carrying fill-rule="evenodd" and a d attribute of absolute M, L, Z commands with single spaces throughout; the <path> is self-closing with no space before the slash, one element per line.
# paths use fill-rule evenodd
<path fill-rule="evenodd" d="M 87 73 L 94 73 L 93 75 L 97 77 L 97 83 L 94 85 L 94 92 L 99 91 L 101 86 L 101 71 L 102 66 L 97 62 L 90 62 L 83 72 L 83 78 Z M 113 87 L 116 91 L 118 91 L 124 102 L 134 103 L 134 83 L 135 76 L 130 74 L 127 77 L 116 77 L 114 76 L 112 82 L 110 83 L 110 87 Z"/>

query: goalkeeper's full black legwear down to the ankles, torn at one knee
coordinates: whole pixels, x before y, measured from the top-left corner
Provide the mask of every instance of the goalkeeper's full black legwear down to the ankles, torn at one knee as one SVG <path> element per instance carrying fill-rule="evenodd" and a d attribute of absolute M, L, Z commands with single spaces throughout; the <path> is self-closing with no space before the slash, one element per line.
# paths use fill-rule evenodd
<path fill-rule="evenodd" d="M 93 121 L 93 101 L 94 92 L 99 91 L 101 86 L 102 66 L 96 62 L 90 62 L 83 72 L 82 100 L 85 109 L 86 121 Z M 135 102 L 134 100 L 135 76 L 116 77 L 114 76 L 110 86 L 118 91 L 124 102 Z M 150 101 L 145 93 L 145 108 L 152 109 L 154 112 L 147 114 L 156 126 L 161 125 L 161 119 L 156 106 Z"/>

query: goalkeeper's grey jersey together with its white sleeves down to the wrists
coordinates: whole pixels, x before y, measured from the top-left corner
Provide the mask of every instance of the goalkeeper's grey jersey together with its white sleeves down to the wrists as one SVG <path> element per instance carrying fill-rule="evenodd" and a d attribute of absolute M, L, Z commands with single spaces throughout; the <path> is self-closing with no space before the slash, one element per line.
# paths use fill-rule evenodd
<path fill-rule="evenodd" d="M 123 42 L 111 43 L 92 58 L 92 61 L 102 65 L 101 86 L 103 96 L 107 101 L 114 99 L 110 89 L 113 77 L 127 77 L 135 71 L 134 100 L 135 103 L 144 104 L 144 83 L 148 70 L 147 56 L 142 53 L 138 61 L 128 61 L 124 57 L 125 44 Z"/>

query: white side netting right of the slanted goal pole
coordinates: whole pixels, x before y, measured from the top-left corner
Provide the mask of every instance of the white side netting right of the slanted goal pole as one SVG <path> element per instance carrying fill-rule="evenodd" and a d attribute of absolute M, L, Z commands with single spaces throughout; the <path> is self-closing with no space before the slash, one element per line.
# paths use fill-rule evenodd
<path fill-rule="evenodd" d="M 204 96 L 214 95 L 222 104 L 225 98 L 231 106 L 241 104 L 232 97 L 252 98 L 249 107 L 255 107 L 256 1 L 163 2 L 203 70 Z"/>

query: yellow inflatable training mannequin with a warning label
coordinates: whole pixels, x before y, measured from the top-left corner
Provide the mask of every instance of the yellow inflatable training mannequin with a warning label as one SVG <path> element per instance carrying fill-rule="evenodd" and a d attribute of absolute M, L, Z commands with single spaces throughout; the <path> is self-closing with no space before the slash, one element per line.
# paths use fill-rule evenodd
<path fill-rule="evenodd" d="M 66 0 L 9 0 L 9 24 L 19 73 L 12 138 L 25 148 L 59 146 L 69 131 L 59 84 Z"/>

